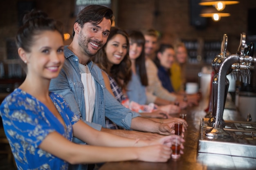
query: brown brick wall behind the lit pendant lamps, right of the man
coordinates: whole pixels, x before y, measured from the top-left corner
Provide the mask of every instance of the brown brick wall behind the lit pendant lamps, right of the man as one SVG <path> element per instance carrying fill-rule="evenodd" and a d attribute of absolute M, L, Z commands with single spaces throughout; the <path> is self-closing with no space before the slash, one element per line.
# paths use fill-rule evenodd
<path fill-rule="evenodd" d="M 247 11 L 256 8 L 255 0 L 240 0 L 239 4 L 226 6 L 230 17 L 214 22 L 207 20 L 205 29 L 196 29 L 190 24 L 189 0 L 119 0 L 117 25 L 126 29 L 154 28 L 163 34 L 164 41 L 179 39 L 222 40 L 226 33 L 229 38 L 229 51 L 235 53 L 240 33 L 247 32 Z M 158 3 L 158 15 L 155 15 Z"/>

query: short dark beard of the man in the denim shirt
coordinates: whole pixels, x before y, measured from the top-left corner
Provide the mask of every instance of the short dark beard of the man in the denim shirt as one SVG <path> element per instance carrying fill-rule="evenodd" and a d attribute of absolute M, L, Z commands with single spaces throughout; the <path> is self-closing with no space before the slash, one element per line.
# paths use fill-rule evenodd
<path fill-rule="evenodd" d="M 83 49 L 83 51 L 84 51 L 89 57 L 92 57 L 92 56 L 94 56 L 94 55 L 97 54 L 97 52 L 99 51 L 99 49 L 98 49 L 97 51 L 95 51 L 95 52 L 91 52 L 91 51 L 89 50 L 89 48 L 88 48 L 88 44 L 89 44 L 90 42 L 93 42 L 93 43 L 95 43 L 95 44 L 100 44 L 100 46 L 102 47 L 101 42 L 98 42 L 98 41 L 95 41 L 95 40 L 91 40 L 91 39 L 87 39 L 87 38 L 85 37 L 85 35 L 84 35 L 82 32 L 79 33 L 79 36 L 78 36 L 78 44 L 79 44 L 79 46 L 81 46 L 81 48 Z"/>

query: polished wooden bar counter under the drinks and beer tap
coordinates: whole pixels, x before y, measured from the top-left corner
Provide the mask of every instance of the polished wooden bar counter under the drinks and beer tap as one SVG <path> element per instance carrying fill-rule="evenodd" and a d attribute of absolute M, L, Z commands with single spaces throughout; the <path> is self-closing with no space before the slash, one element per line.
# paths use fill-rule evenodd
<path fill-rule="evenodd" d="M 182 110 L 182 113 L 187 113 L 186 121 L 189 126 L 184 134 L 184 154 L 181 155 L 180 159 L 170 159 L 166 163 L 108 162 L 101 166 L 99 170 L 256 170 L 256 159 L 253 158 L 198 152 L 200 119 L 206 115 L 203 110 L 207 103 L 206 100 L 202 100 L 199 106 Z M 178 117 L 178 115 L 173 116 Z M 228 99 L 223 119 L 245 121 L 236 111 L 234 103 L 228 102 Z M 218 148 L 216 147 L 216 149 Z M 256 150 L 253 152 L 256 152 Z"/>

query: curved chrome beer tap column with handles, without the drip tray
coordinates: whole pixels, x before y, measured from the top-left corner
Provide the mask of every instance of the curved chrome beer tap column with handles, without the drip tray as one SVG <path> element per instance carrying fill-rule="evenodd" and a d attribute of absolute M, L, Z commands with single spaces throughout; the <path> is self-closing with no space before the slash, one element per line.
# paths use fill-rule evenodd
<path fill-rule="evenodd" d="M 217 89 L 214 98 L 214 103 L 217 102 L 216 108 L 216 120 L 213 128 L 206 130 L 205 135 L 210 138 L 218 137 L 231 137 L 231 135 L 224 130 L 225 121 L 223 120 L 223 111 L 225 106 L 225 99 L 227 97 L 227 88 L 229 82 L 227 81 L 226 75 L 231 73 L 233 69 L 240 70 L 241 73 L 248 75 L 248 70 L 254 68 L 252 66 L 253 62 L 256 62 L 256 58 L 253 57 L 254 44 L 251 43 L 249 48 L 245 49 L 245 33 L 241 34 L 240 46 L 238 47 L 238 52 L 236 54 L 230 55 L 225 59 L 221 60 L 221 64 L 218 71 Z M 247 52 L 248 51 L 248 52 Z M 246 70 L 246 71 L 242 71 Z M 249 76 L 248 76 L 249 77 Z M 244 79 L 248 81 L 249 79 Z"/>

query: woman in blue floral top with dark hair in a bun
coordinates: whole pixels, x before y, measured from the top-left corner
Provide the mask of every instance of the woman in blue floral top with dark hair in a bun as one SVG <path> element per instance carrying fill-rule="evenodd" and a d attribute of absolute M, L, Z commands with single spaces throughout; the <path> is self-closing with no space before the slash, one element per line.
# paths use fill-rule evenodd
<path fill-rule="evenodd" d="M 67 170 L 69 163 L 167 161 L 171 140 L 183 142 L 180 137 L 146 141 L 95 130 L 72 113 L 61 95 L 49 92 L 50 80 L 58 76 L 65 61 L 59 25 L 42 11 L 31 11 L 16 37 L 27 77 L 4 99 L 0 115 L 17 168 Z M 73 143 L 73 135 L 95 146 Z"/>

